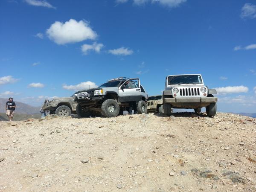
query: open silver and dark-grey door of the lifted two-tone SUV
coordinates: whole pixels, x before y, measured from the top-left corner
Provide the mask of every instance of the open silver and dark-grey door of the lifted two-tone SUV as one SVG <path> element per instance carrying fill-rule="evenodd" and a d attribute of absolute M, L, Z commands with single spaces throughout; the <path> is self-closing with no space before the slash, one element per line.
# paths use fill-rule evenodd
<path fill-rule="evenodd" d="M 128 79 L 119 87 L 120 102 L 140 101 L 140 79 Z"/>

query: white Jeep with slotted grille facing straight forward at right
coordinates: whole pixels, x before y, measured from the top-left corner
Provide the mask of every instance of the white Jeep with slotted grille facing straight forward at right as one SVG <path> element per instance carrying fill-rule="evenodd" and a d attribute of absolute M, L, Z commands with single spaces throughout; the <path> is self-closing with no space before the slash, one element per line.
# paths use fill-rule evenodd
<path fill-rule="evenodd" d="M 215 116 L 218 98 L 213 94 L 217 94 L 217 91 L 205 86 L 200 74 L 167 76 L 163 91 L 163 111 L 171 115 L 172 108 L 186 108 L 199 113 L 205 107 L 208 116 Z"/>

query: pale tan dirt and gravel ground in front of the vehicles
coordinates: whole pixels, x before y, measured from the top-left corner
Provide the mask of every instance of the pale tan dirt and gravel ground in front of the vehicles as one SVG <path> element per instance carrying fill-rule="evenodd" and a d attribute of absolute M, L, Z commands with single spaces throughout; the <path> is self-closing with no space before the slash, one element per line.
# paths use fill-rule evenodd
<path fill-rule="evenodd" d="M 0 122 L 0 191 L 256 191 L 256 119 L 230 113 Z"/>

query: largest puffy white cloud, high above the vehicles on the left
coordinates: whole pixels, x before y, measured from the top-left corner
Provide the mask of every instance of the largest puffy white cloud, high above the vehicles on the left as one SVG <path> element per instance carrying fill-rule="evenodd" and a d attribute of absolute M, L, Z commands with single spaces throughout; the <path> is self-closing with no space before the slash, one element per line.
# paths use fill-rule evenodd
<path fill-rule="evenodd" d="M 55 21 L 46 31 L 49 39 L 56 44 L 69 44 L 84 41 L 87 39 L 96 39 L 97 34 L 90 28 L 89 23 L 80 20 L 70 19 L 65 23 Z"/>

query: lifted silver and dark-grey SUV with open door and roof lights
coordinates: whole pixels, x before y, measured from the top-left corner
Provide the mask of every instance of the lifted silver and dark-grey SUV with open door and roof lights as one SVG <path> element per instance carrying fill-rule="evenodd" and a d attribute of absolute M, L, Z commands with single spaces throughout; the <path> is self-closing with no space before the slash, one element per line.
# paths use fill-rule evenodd
<path fill-rule="evenodd" d="M 110 79 L 96 89 L 75 94 L 73 98 L 77 103 L 76 113 L 84 117 L 95 113 L 114 117 L 128 111 L 134 103 L 138 113 L 147 113 L 148 94 L 139 78 Z"/>

